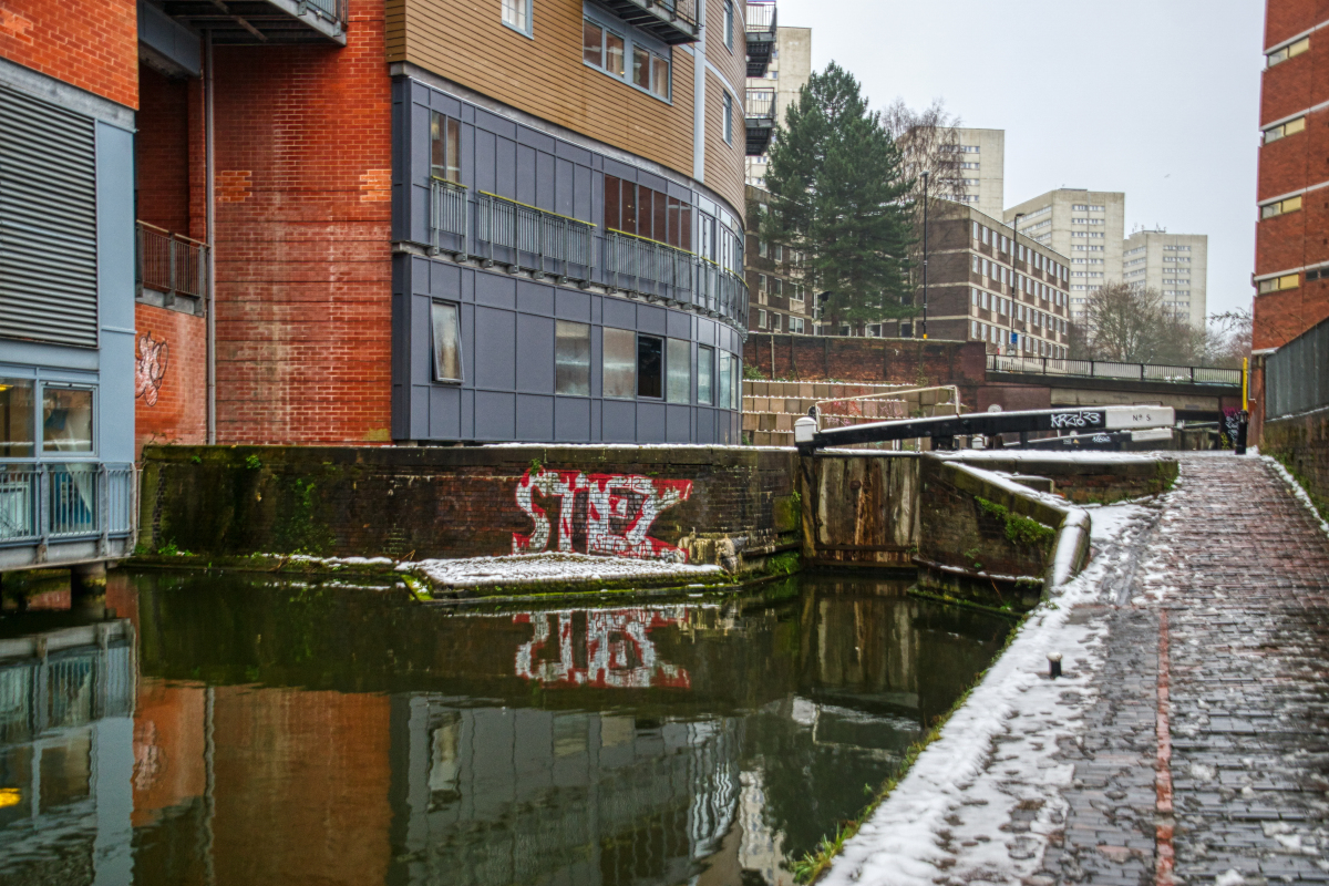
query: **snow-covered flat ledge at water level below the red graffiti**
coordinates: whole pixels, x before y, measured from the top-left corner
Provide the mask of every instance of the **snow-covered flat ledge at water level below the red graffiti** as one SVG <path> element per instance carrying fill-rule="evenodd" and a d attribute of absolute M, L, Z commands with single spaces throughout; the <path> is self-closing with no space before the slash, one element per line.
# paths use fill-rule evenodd
<path fill-rule="evenodd" d="M 722 573 L 714 565 L 671 563 L 631 557 L 589 554 L 518 554 L 470 557 L 399 563 L 397 571 L 413 573 L 449 588 L 522 584 L 597 584 L 643 579 L 695 579 Z"/>

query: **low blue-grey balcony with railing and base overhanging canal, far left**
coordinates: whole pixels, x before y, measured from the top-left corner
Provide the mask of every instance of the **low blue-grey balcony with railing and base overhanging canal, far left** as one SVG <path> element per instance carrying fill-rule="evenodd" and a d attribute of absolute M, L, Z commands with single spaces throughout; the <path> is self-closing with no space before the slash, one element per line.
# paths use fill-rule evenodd
<path fill-rule="evenodd" d="M 134 466 L 0 465 L 0 570 L 128 557 Z"/>

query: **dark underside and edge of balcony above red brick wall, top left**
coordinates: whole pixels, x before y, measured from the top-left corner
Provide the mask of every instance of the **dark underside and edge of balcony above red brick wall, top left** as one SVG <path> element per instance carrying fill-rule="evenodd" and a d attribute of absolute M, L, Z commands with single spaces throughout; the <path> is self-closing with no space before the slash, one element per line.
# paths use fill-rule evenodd
<path fill-rule="evenodd" d="M 165 0 L 170 17 L 194 31 L 211 31 L 213 43 L 346 45 L 350 0 Z"/>

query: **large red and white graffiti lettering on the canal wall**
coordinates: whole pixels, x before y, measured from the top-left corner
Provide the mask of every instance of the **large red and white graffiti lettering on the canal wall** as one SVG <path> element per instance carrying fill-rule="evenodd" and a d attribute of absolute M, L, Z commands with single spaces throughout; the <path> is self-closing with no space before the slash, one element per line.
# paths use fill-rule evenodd
<path fill-rule="evenodd" d="M 556 550 L 571 551 L 577 534 L 578 495 L 585 497 L 586 553 L 687 562 L 687 551 L 650 531 L 661 511 L 687 501 L 691 480 L 657 480 L 639 474 L 583 474 L 579 470 L 528 470 L 517 482 L 517 506 L 534 523 L 530 533 L 512 534 L 513 554 L 540 554 L 549 549 L 550 519 L 536 493 L 548 503 L 558 498 Z"/>

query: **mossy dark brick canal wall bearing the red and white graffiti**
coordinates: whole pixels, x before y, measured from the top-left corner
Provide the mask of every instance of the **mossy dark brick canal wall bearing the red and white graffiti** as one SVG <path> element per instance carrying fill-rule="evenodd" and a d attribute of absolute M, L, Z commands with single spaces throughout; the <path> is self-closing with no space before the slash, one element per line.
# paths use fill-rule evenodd
<path fill-rule="evenodd" d="M 796 546 L 796 480 L 792 449 L 148 446 L 140 550 L 744 569 Z"/>

